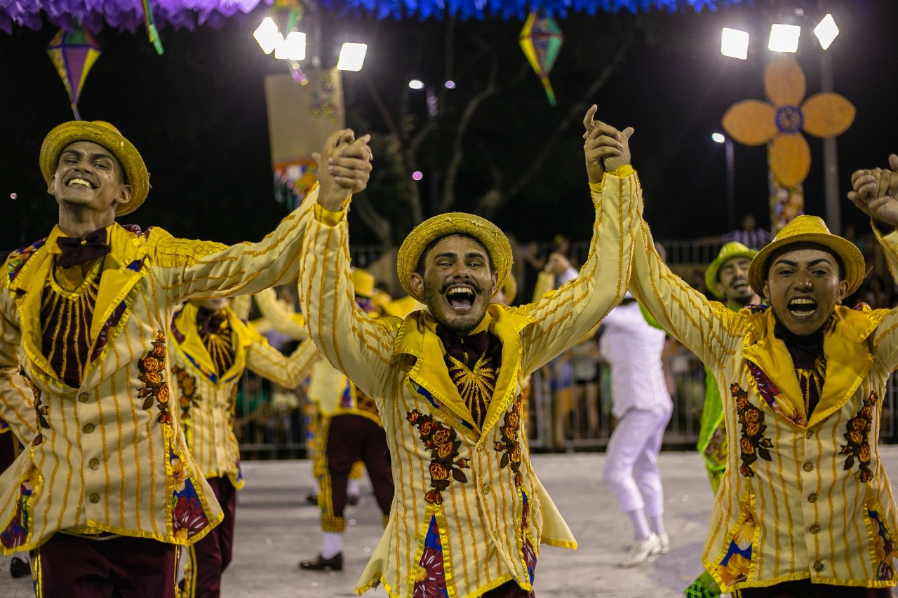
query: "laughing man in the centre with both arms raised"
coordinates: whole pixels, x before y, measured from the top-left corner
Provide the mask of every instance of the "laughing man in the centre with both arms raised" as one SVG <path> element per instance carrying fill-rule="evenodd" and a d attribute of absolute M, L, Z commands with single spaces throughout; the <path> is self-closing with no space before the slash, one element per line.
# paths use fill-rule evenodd
<path fill-rule="evenodd" d="M 376 400 L 396 484 L 357 592 L 527 596 L 541 542 L 576 547 L 531 467 L 521 386 L 623 296 L 632 250 L 621 231 L 638 185 L 618 136 L 630 132 L 603 125 L 586 139 L 595 222 L 580 276 L 521 307 L 489 303 L 511 268 L 506 235 L 455 213 L 418 224 L 397 256 L 403 288 L 427 311 L 367 317 L 352 301 L 347 205 L 318 202 L 303 312 L 321 354 Z"/>

